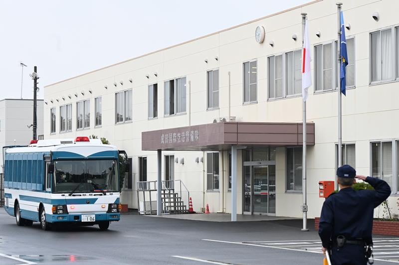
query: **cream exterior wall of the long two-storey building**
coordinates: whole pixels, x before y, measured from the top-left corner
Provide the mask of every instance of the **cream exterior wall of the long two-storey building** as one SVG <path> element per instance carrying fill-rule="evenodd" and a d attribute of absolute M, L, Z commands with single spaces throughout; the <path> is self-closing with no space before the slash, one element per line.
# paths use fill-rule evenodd
<path fill-rule="evenodd" d="M 138 179 L 138 156 L 147 156 L 148 180 L 156 179 L 156 152 L 141 150 L 142 132 L 189 126 L 190 121 L 191 125 L 211 123 L 216 117 L 228 116 L 229 109 L 230 116 L 237 117 L 237 121 L 240 122 L 301 122 L 300 96 L 268 101 L 267 57 L 301 49 L 301 12 L 308 14 L 311 47 L 337 39 L 335 2 L 333 0 L 315 1 L 49 85 L 44 91 L 44 101 L 48 104 L 44 106 L 45 138 L 91 134 L 106 137 L 133 157 L 133 183 L 135 183 Z M 343 0 L 342 2 L 345 23 L 351 24 L 351 30 L 346 31 L 347 38 L 355 36 L 356 85 L 355 89 L 348 89 L 347 96 L 343 97 L 342 138 L 344 143 L 356 144 L 357 172 L 370 175 L 370 141 L 399 139 L 399 124 L 395 122 L 399 115 L 398 83 L 369 85 L 370 32 L 398 25 L 399 18 L 395 12 L 399 3 L 396 0 Z M 380 13 L 378 22 L 372 18 L 372 13 L 375 11 Z M 264 26 L 266 30 L 265 41 L 262 44 L 254 40 L 257 25 Z M 316 31 L 321 32 L 320 37 L 316 36 Z M 292 34 L 297 34 L 297 41 L 292 40 Z M 268 44 L 271 40 L 274 41 L 273 47 Z M 311 54 L 314 59 L 313 49 Z M 216 56 L 218 60 L 214 59 Z M 207 63 L 204 62 L 205 59 Z M 252 59 L 257 60 L 257 103 L 244 105 L 242 63 Z M 314 78 L 314 60 L 311 67 Z M 220 107 L 207 111 L 206 71 L 211 69 L 219 69 Z M 228 105 L 229 72 L 231 77 L 230 108 Z M 154 73 L 157 73 L 157 76 Z M 163 83 L 165 80 L 184 76 L 187 77 L 187 94 L 191 87 L 191 102 L 189 103 L 188 100 L 187 113 L 164 117 Z M 133 82 L 129 82 L 129 79 Z M 123 81 L 123 85 L 120 81 Z M 113 85 L 114 82 L 116 82 L 116 87 Z M 158 118 L 148 120 L 148 85 L 154 83 L 158 83 Z M 104 86 L 107 86 L 107 89 Z M 133 122 L 115 125 L 115 93 L 126 89 L 133 89 Z M 89 90 L 92 93 L 89 93 Z M 77 97 L 74 96 L 75 93 Z M 68 95 L 71 95 L 71 99 Z M 98 96 L 102 96 L 103 118 L 102 126 L 94 128 L 94 98 Z M 76 102 L 84 99 L 91 99 L 91 126 L 90 129 L 80 132 L 76 131 Z M 59 106 L 69 103 L 72 103 L 72 132 L 59 133 Z M 315 123 L 315 145 L 308 148 L 309 217 L 318 216 L 323 203 L 323 199 L 318 196 L 318 181 L 335 178 L 335 144 L 338 141 L 337 106 L 336 92 L 315 93 L 314 86 L 309 88 L 307 119 L 308 122 Z M 50 134 L 49 112 L 52 107 L 56 108 L 57 115 L 57 130 L 54 134 Z M 168 151 L 163 154 L 174 154 L 179 159 L 185 158 L 184 165 L 175 164 L 175 179 L 182 179 L 187 185 L 196 211 L 208 203 L 212 212 L 230 212 L 231 195 L 226 187 L 220 188 L 219 192 L 206 192 L 205 153 Z M 196 163 L 196 157 L 204 157 L 204 163 Z M 276 157 L 276 215 L 300 217 L 302 215 L 301 194 L 285 192 L 285 148 L 277 148 Z M 242 212 L 241 159 L 239 154 L 238 213 Z M 220 170 L 223 170 L 221 166 Z M 224 181 L 225 184 L 227 180 Z M 133 190 L 134 188 L 135 184 Z M 123 192 L 122 201 L 128 202 L 129 207 L 137 207 L 136 196 L 135 191 Z M 391 196 L 392 206 L 396 205 L 396 199 L 397 197 Z M 397 211 L 397 209 L 393 210 Z"/>

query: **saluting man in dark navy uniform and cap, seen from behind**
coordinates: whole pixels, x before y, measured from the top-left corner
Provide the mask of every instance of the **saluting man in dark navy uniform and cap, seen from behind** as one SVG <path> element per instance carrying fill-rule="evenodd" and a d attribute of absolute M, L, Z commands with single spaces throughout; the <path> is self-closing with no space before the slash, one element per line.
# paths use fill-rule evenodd
<path fill-rule="evenodd" d="M 337 176 L 340 191 L 331 194 L 321 210 L 322 250 L 331 251 L 333 265 L 365 265 L 367 246 L 373 245 L 374 208 L 390 196 L 391 188 L 382 179 L 356 175 L 350 165 L 338 168 Z M 368 182 L 374 190 L 355 191 L 355 178 Z"/>

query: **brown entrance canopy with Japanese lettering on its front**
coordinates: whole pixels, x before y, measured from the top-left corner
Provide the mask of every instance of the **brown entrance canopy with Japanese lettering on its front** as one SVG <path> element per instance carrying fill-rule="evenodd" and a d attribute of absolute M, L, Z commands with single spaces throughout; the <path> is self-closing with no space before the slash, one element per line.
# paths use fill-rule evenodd
<path fill-rule="evenodd" d="M 315 125 L 306 127 L 315 144 Z M 220 151 L 236 146 L 302 145 L 302 123 L 222 122 L 142 133 L 142 150 Z"/>

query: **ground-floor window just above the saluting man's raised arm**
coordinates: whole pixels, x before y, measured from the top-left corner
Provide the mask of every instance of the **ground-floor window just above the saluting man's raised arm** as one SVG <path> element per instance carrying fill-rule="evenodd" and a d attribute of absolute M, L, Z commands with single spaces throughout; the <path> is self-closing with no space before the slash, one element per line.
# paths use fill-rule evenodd
<path fill-rule="evenodd" d="M 393 189 L 392 141 L 372 142 L 372 176 L 381 178 Z"/>

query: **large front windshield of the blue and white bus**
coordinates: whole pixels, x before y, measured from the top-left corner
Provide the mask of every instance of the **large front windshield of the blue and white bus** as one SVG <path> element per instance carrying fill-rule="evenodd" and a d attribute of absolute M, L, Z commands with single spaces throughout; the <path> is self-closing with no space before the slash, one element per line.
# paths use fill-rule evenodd
<path fill-rule="evenodd" d="M 54 161 L 53 193 L 118 192 L 116 160 Z"/>

